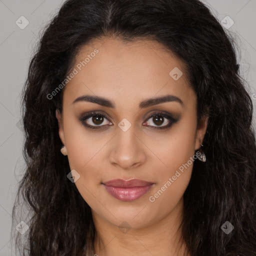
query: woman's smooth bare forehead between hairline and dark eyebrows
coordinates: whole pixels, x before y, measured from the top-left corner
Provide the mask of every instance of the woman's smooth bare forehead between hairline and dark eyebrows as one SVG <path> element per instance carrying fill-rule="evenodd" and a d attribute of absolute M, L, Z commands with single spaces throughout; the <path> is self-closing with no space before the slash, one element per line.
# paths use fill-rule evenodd
<path fill-rule="evenodd" d="M 180 59 L 153 40 L 95 39 L 77 52 L 69 71 L 75 69 L 76 74 L 65 86 L 64 98 L 71 100 L 82 94 L 95 94 L 118 105 L 118 102 L 135 103 L 171 93 L 186 102 L 195 95 L 184 67 Z M 181 76 L 173 79 L 175 73 Z"/>

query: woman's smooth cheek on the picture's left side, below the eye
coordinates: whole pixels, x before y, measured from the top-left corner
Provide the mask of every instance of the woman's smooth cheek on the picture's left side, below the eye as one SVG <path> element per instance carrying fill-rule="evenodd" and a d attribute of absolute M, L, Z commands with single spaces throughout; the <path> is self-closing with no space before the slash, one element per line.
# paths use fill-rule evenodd
<path fill-rule="evenodd" d="M 102 169 L 100 158 L 109 139 L 103 132 L 86 130 L 71 114 L 65 117 L 64 133 L 69 167 L 80 175 L 75 185 L 83 196 L 92 192 L 95 185 L 101 182 L 101 175 L 96 170 Z"/>

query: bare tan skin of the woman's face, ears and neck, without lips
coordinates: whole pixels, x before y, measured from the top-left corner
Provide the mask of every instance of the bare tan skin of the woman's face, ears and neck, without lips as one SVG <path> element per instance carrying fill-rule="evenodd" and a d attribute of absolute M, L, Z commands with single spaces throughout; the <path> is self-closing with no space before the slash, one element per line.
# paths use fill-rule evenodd
<path fill-rule="evenodd" d="M 158 42 L 141 39 L 125 43 L 114 37 L 93 40 L 82 46 L 72 68 L 95 48 L 99 52 L 64 87 L 62 115 L 56 110 L 70 170 L 80 174 L 75 185 L 91 207 L 95 253 L 183 255 L 186 247 L 178 226 L 193 163 L 153 202 L 149 196 L 195 154 L 203 141 L 207 117 L 196 126 L 196 94 L 185 73 L 178 80 L 169 75 L 174 67 L 184 71 L 184 65 Z M 85 94 L 110 99 L 115 108 L 86 101 L 72 104 Z M 177 96 L 183 104 L 171 101 L 139 108 L 140 101 L 166 94 Z M 156 110 L 178 116 L 178 121 L 169 128 L 155 129 L 169 122 L 164 118 L 157 124 L 153 117 L 147 118 Z M 110 119 L 98 124 L 88 118 L 87 123 L 108 126 L 86 128 L 79 117 L 90 111 L 99 111 Z M 131 124 L 126 131 L 118 126 L 123 118 Z M 146 120 L 151 126 L 145 125 Z M 121 201 L 101 183 L 115 178 L 138 178 L 155 184 L 138 199 Z M 121 223 L 128 229 L 119 228 Z"/>

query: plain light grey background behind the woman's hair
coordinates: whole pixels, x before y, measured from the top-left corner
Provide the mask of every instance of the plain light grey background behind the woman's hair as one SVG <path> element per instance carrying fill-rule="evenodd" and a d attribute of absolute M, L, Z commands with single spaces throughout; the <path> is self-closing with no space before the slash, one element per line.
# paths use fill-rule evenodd
<path fill-rule="evenodd" d="M 230 28 L 239 46 L 240 72 L 253 104 L 256 101 L 256 0 L 202 0 L 215 17 L 234 24 Z M 11 255 L 11 210 L 22 175 L 23 134 L 19 121 L 20 93 L 38 34 L 57 12 L 63 0 L 0 0 L 0 256 Z M 21 29 L 15 22 L 24 16 L 28 25 Z M 22 19 L 24 25 L 24 19 Z M 253 25 L 254 24 L 254 25 Z M 21 25 L 21 24 L 20 24 Z M 224 26 L 224 24 L 222 23 Z M 255 111 L 253 112 L 255 127 Z M 6 175 L 6 176 L 5 176 Z M 14 252 L 12 253 L 14 255 Z"/>

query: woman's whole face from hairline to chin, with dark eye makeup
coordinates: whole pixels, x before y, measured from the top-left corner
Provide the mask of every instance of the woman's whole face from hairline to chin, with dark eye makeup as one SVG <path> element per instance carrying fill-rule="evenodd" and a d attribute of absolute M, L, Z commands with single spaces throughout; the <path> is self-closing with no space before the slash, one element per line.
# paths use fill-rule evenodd
<path fill-rule="evenodd" d="M 149 40 L 104 38 L 78 52 L 62 118 L 58 111 L 56 117 L 71 173 L 80 175 L 75 185 L 94 220 L 142 228 L 180 209 L 207 124 L 196 127 L 196 95 L 183 67 Z M 97 114 L 85 119 L 91 111 Z M 112 194 L 104 185 L 133 178 L 152 185 L 108 186 Z"/>

